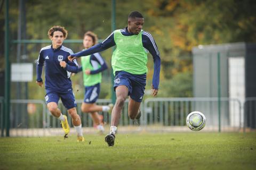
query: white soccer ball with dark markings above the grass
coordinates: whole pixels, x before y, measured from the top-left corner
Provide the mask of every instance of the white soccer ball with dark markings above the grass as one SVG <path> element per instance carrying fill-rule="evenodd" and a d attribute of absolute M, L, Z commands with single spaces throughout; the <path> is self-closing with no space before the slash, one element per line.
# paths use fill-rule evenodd
<path fill-rule="evenodd" d="M 187 116 L 187 125 L 188 128 L 193 131 L 199 131 L 204 128 L 206 122 L 206 117 L 203 113 L 195 111 L 191 112 Z"/>

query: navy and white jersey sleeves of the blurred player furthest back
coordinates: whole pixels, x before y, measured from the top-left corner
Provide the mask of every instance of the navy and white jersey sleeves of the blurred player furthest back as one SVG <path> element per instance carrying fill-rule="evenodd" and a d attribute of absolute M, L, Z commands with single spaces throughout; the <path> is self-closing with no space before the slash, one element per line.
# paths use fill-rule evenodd
<path fill-rule="evenodd" d="M 91 74 L 97 74 L 100 73 L 106 69 L 108 69 L 108 66 L 105 62 L 105 60 L 101 57 L 99 53 L 92 54 L 90 56 L 90 63 L 94 70 L 91 70 Z M 98 64 L 100 64 L 101 67 L 98 68 Z M 79 67 L 78 72 L 82 71 L 82 66 Z"/>

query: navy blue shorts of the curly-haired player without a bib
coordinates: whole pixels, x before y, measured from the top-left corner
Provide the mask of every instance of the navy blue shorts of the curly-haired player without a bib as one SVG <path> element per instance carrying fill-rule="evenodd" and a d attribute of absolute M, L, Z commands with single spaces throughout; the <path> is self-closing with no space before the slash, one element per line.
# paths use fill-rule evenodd
<path fill-rule="evenodd" d="M 52 90 L 46 90 L 46 104 L 50 102 L 55 102 L 58 104 L 59 99 L 61 99 L 66 109 L 76 107 L 76 99 L 72 89 L 69 89 L 67 92 L 55 92 Z"/>

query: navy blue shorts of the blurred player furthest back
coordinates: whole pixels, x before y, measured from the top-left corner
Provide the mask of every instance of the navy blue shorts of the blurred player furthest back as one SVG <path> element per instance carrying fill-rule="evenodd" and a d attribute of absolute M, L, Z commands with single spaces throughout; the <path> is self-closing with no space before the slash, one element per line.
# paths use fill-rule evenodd
<path fill-rule="evenodd" d="M 84 103 L 96 103 L 100 95 L 100 83 L 93 86 L 85 86 Z"/>

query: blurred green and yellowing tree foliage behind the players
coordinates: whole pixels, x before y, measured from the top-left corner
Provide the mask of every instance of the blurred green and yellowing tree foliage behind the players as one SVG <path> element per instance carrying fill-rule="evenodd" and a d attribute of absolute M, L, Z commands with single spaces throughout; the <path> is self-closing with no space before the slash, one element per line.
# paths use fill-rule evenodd
<path fill-rule="evenodd" d="M 11 39 L 17 39 L 18 29 L 18 1 L 10 3 L 10 30 Z M 192 92 L 182 92 L 182 88 L 190 89 L 192 79 L 180 75 L 191 75 L 193 67 L 191 49 L 193 46 L 206 44 L 233 43 L 237 41 L 256 42 L 256 1 L 183 1 L 183 0 L 124 0 L 116 1 L 116 29 L 127 25 L 127 15 L 133 11 L 140 11 L 145 24 L 143 29 L 153 35 L 161 54 L 161 82 L 160 91 L 165 90 L 165 84 L 173 83 L 172 87 L 177 93 L 170 94 L 159 91 L 159 96 L 191 96 Z M 4 10 L 0 11 L 0 23 L 4 23 Z M 26 1 L 26 38 L 48 39 L 47 31 L 52 25 L 63 25 L 68 30 L 68 39 L 82 39 L 86 31 L 94 31 L 99 39 L 105 39 L 111 33 L 111 1 Z M 0 27 L 0 45 L 4 40 L 4 24 Z M 48 44 L 28 44 L 26 53 L 28 58 L 22 62 L 34 62 L 40 48 Z M 82 44 L 64 45 L 78 52 Z M 3 46 L 2 46 L 3 47 Z M 23 48 L 23 46 L 22 46 Z M 12 62 L 16 62 L 17 46 L 10 47 Z M 0 66 L 3 70 L 3 50 L 0 50 Z M 111 49 L 102 53 L 110 67 Z M 148 79 L 151 81 L 154 63 L 149 55 Z M 35 70 L 34 70 L 35 71 Z M 35 74 L 35 72 L 34 72 Z M 110 70 L 106 76 L 110 77 Z M 191 75 L 192 77 L 193 75 Z M 110 80 L 110 78 L 109 78 Z M 79 77 L 74 77 L 76 84 L 81 84 Z M 78 82 L 78 83 L 77 83 Z M 175 82 L 175 83 L 174 83 Z M 32 83 L 32 82 L 31 82 Z M 108 82 L 110 83 L 110 81 Z M 149 83 L 151 85 L 151 83 Z M 29 88 L 36 90 L 35 83 L 29 83 Z M 15 86 L 12 86 L 15 87 Z M 182 87 L 182 88 L 181 88 Z M 107 87 L 108 88 L 108 87 Z M 150 88 L 148 86 L 147 88 Z M 38 88 L 37 88 L 38 89 Z M 13 89 L 13 91 L 15 91 Z M 109 97 L 110 89 L 101 90 L 102 97 Z M 180 92 L 179 92 L 180 91 Z M 38 98 L 38 90 L 35 96 Z M 107 95 L 108 94 L 108 95 Z M 13 95 L 14 96 L 14 95 Z M 41 96 L 41 94 L 40 94 Z M 41 97 L 40 97 L 41 98 Z"/>

